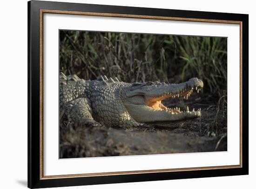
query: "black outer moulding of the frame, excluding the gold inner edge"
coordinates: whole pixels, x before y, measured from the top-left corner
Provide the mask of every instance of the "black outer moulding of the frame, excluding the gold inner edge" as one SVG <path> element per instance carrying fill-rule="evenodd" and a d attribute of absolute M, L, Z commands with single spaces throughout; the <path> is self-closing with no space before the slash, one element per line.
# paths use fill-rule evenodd
<path fill-rule="evenodd" d="M 242 168 L 40 180 L 40 9 L 242 21 Z M 28 187 L 47 188 L 249 174 L 249 15 L 50 1 L 28 2 Z"/>

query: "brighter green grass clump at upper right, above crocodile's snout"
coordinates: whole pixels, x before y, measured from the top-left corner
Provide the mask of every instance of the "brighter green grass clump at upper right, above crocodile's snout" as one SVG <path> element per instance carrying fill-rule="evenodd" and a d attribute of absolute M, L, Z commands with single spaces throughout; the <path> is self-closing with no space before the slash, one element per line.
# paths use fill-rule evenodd
<path fill-rule="evenodd" d="M 184 66 L 182 80 L 185 77 L 202 78 L 206 89 L 211 93 L 220 93 L 227 86 L 227 38 L 178 37 L 175 41 L 177 54 Z"/>

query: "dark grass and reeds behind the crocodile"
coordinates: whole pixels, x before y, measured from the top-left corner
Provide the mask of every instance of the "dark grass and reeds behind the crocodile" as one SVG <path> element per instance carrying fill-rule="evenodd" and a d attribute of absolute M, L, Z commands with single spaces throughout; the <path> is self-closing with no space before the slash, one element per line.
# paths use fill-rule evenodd
<path fill-rule="evenodd" d="M 85 80 L 106 75 L 122 82 L 179 83 L 197 77 L 204 82 L 200 97 L 175 104 L 202 108 L 200 136 L 227 136 L 227 38 L 60 31 L 59 58 L 61 72 Z"/>

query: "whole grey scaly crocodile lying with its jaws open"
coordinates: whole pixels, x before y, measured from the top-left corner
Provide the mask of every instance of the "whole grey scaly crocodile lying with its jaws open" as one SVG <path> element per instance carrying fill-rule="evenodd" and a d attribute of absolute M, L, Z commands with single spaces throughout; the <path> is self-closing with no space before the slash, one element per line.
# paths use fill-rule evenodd
<path fill-rule="evenodd" d="M 203 82 L 191 78 L 187 82 L 120 82 L 107 76 L 86 81 L 76 75 L 59 77 L 60 110 L 71 123 L 106 126 L 143 126 L 149 123 L 195 119 L 201 108 L 189 111 L 162 104 L 166 98 L 188 99 L 203 88 Z"/>

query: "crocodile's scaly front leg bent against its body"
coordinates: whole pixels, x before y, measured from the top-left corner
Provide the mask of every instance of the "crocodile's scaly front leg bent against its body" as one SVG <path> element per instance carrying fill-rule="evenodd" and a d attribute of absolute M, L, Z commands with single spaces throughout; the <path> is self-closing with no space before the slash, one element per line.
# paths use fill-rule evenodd
<path fill-rule="evenodd" d="M 72 123 L 101 126 L 100 123 L 93 119 L 90 101 L 85 97 L 70 101 L 66 106 L 66 111 L 67 118 Z"/>

